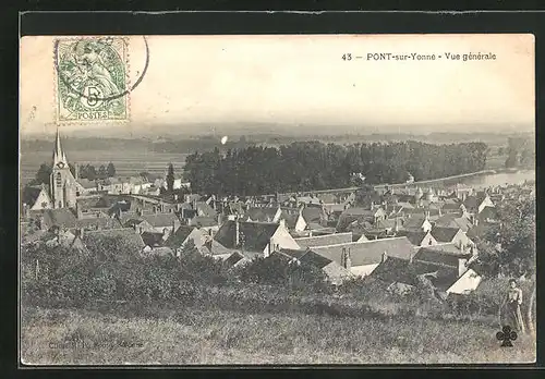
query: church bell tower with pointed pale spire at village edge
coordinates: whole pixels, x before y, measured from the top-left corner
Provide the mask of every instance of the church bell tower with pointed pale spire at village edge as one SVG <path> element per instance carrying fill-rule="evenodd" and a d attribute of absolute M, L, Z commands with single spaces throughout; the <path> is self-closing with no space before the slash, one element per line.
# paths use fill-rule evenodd
<path fill-rule="evenodd" d="M 57 137 L 55 140 L 53 167 L 51 170 L 49 188 L 53 208 L 75 207 L 76 183 L 72 172 L 70 172 L 66 155 L 62 150 L 59 129 L 57 129 Z"/>

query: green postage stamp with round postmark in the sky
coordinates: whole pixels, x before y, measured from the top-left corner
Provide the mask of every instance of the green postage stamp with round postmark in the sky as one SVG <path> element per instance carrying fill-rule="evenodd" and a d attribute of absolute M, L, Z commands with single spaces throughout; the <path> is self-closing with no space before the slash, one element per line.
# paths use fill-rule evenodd
<path fill-rule="evenodd" d="M 128 121 L 128 42 L 122 37 L 57 39 L 57 121 Z"/>

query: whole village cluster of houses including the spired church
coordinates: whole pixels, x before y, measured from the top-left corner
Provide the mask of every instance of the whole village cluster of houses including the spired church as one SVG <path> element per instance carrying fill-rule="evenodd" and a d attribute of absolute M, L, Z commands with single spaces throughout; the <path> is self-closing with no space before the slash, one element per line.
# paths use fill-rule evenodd
<path fill-rule="evenodd" d="M 55 159 L 65 161 L 59 136 L 56 151 Z M 470 268 L 479 255 L 474 241 L 498 222 L 495 204 L 514 196 L 502 187 L 407 185 L 382 187 L 358 200 L 353 190 L 179 197 L 111 183 L 114 187 L 102 186 L 101 193 L 71 197 L 69 190 L 77 190 L 73 179 L 59 163 L 49 192 L 44 186 L 23 194 L 23 243 L 85 249 L 117 236 L 135 253 L 183 259 L 191 242 L 231 267 L 276 257 L 286 265 L 315 266 L 334 284 L 374 276 L 408 291 L 425 279 L 444 294 L 479 286 L 481 277 Z M 48 198 L 50 205 L 39 204 Z"/>

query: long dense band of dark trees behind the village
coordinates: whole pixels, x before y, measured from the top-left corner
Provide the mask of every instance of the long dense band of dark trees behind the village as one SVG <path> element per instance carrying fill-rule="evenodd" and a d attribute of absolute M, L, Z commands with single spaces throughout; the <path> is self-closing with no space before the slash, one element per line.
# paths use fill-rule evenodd
<path fill-rule="evenodd" d="M 481 171 L 484 143 L 433 145 L 421 142 L 324 144 L 295 142 L 280 147 L 218 148 L 190 155 L 184 175 L 194 192 L 258 195 L 317 191 L 361 184 L 404 183 Z"/>

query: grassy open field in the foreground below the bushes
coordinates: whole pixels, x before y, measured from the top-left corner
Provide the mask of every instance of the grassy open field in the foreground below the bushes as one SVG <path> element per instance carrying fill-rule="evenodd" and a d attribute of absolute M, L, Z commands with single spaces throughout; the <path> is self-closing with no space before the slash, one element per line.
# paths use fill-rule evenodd
<path fill-rule="evenodd" d="M 243 314 L 198 307 L 142 316 L 24 309 L 25 364 L 456 364 L 535 359 L 535 340 L 500 347 L 497 328 L 426 318 Z"/>

